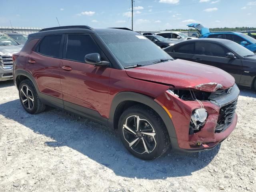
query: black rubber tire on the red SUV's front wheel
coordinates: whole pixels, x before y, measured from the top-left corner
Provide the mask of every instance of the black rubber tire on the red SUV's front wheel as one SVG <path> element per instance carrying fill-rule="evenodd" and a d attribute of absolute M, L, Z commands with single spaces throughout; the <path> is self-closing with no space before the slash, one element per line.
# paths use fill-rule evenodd
<path fill-rule="evenodd" d="M 149 123 L 149 124 L 147 124 L 146 122 L 144 122 L 142 120 L 141 121 L 142 126 L 139 126 L 140 128 L 142 128 L 142 130 L 141 131 L 138 130 L 138 132 L 136 132 L 137 135 L 134 135 L 133 133 L 127 131 L 126 128 L 124 128 L 124 130 L 123 130 L 124 124 L 126 124 L 126 123 L 128 124 L 128 121 L 132 123 L 133 120 L 130 120 L 130 118 L 134 118 L 134 124 L 136 123 L 137 118 L 134 116 L 139 116 L 140 119 L 143 118 L 144 120 L 148 121 L 148 123 Z M 140 125 L 140 121 L 139 121 L 139 125 Z M 132 127 L 131 124 L 129 126 Z M 152 126 L 152 129 L 151 129 L 151 126 Z M 136 131 L 136 124 L 135 124 L 135 126 L 133 126 L 133 128 Z M 144 128 L 146 128 L 146 129 L 144 129 Z M 153 140 L 152 136 L 148 136 L 147 134 L 142 134 L 143 131 L 145 133 L 148 130 L 148 128 L 150 130 L 153 130 L 152 132 L 155 133 L 154 140 Z M 118 133 L 119 133 L 119 136 L 120 136 L 125 148 L 131 154 L 133 154 L 134 156 L 136 156 L 140 159 L 143 159 L 143 160 L 152 160 L 152 159 L 160 157 L 162 154 L 164 154 L 168 150 L 168 148 L 171 145 L 168 131 L 166 129 L 164 122 L 160 118 L 160 116 L 156 112 L 154 112 L 154 110 L 152 110 L 151 108 L 148 108 L 143 105 L 132 106 L 122 113 L 122 115 L 120 116 L 119 122 L 118 122 Z M 140 134 L 140 136 L 138 134 Z M 130 136 L 131 136 L 131 138 L 130 138 Z M 134 145 L 132 145 L 130 147 L 129 142 L 126 140 L 127 138 L 131 139 L 132 142 L 134 140 L 137 140 L 137 138 L 139 138 L 139 139 L 134 143 Z M 130 142 L 130 144 L 132 142 Z M 154 144 L 154 142 L 155 142 L 155 144 Z M 149 143 L 152 144 L 151 150 L 150 150 L 150 145 L 148 145 Z M 143 152 L 144 149 L 146 149 L 144 147 L 145 144 L 146 144 L 146 148 L 147 148 L 148 152 L 150 152 L 150 153 L 146 152 L 146 150 L 145 150 L 145 152 Z M 134 146 L 134 149 L 132 149 L 133 146 Z M 142 147 L 140 147 L 140 146 L 142 146 Z M 155 146 L 155 147 L 153 148 L 153 146 Z M 137 148 L 140 149 L 143 147 L 144 147 L 144 149 L 142 149 L 142 152 L 139 153 Z M 135 151 L 135 150 L 137 150 L 137 151 Z"/>

